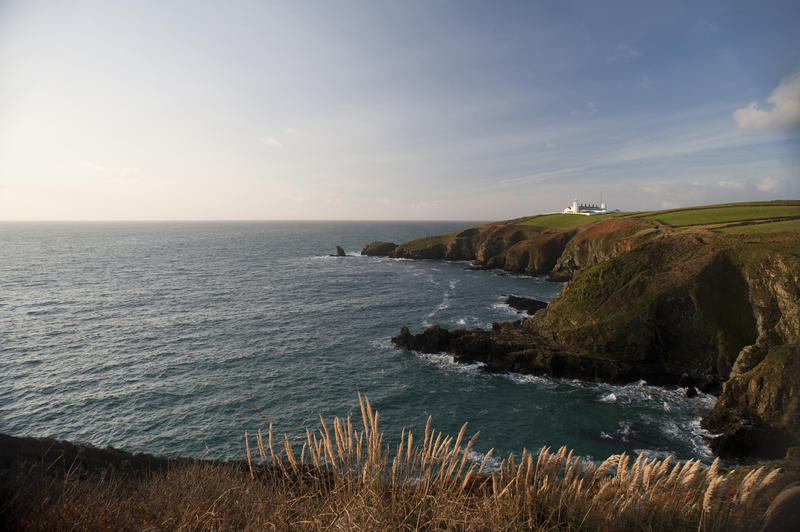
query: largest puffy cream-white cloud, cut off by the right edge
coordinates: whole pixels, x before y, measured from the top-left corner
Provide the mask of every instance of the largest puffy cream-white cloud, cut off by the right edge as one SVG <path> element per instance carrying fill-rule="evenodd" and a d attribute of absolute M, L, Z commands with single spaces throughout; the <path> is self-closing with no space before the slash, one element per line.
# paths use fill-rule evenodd
<path fill-rule="evenodd" d="M 800 70 L 783 78 L 767 101 L 772 104 L 771 109 L 760 109 L 757 102 L 737 109 L 733 113 L 737 127 L 750 131 L 800 130 Z"/>

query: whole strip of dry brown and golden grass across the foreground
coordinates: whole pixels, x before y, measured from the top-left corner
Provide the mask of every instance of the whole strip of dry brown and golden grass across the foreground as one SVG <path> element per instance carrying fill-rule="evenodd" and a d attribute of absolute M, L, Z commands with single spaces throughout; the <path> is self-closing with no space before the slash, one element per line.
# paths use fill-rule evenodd
<path fill-rule="evenodd" d="M 469 459 L 474 436 L 404 432 L 389 447 L 377 412 L 307 431 L 301 448 L 272 430 L 245 435 L 247 462 L 180 463 L 165 472 L 88 475 L 28 465 L 4 480 L 11 529 L 751 530 L 785 486 L 780 470 L 723 473 L 716 462 L 614 455 L 600 465 L 565 448 Z M 62 464 L 65 465 L 65 464 Z M 56 467 L 56 469 L 58 469 Z M 10 484 L 10 486 L 9 486 Z M 10 489 L 9 489 L 10 488 Z"/>

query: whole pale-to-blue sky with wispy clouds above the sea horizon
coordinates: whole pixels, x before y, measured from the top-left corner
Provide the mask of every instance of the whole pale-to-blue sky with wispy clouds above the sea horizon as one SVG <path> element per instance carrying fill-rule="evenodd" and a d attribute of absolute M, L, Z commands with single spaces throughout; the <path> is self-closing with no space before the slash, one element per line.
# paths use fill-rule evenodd
<path fill-rule="evenodd" d="M 0 220 L 800 199 L 800 2 L 0 0 Z"/>

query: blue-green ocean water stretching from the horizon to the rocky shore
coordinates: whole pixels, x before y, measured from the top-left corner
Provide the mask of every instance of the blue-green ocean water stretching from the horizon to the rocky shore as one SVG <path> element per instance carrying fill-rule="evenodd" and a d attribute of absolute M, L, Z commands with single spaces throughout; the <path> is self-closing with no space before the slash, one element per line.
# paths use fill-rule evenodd
<path fill-rule="evenodd" d="M 519 319 L 516 294 L 561 285 L 463 262 L 360 256 L 465 222 L 0 224 L 0 432 L 168 456 L 238 459 L 243 433 L 359 417 L 357 393 L 402 428 L 480 431 L 495 456 L 567 445 L 712 457 L 714 397 L 488 375 L 400 351 L 400 327 Z M 329 256 L 341 245 L 348 256 Z"/>

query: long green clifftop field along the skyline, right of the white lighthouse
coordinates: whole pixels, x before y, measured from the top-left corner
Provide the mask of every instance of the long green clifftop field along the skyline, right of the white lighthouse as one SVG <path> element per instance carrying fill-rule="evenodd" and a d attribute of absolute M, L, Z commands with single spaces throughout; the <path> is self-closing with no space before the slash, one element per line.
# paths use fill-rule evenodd
<path fill-rule="evenodd" d="M 635 216 L 651 218 L 672 227 L 684 227 L 687 225 L 711 225 L 800 216 L 800 204 L 789 202 L 733 203 L 711 207 L 640 213 Z"/>

